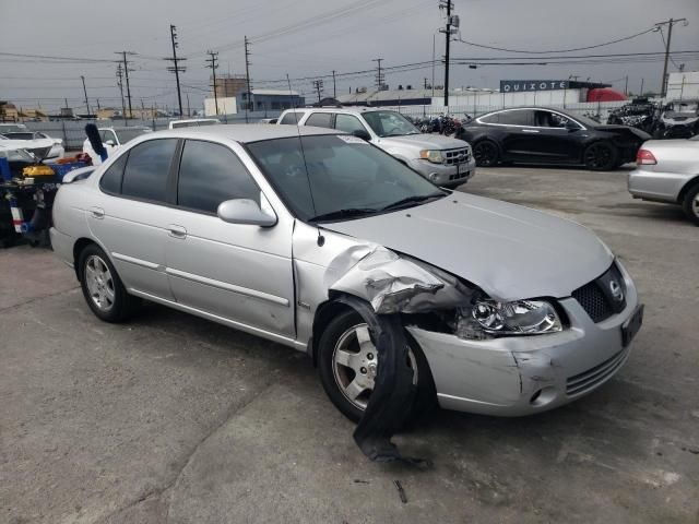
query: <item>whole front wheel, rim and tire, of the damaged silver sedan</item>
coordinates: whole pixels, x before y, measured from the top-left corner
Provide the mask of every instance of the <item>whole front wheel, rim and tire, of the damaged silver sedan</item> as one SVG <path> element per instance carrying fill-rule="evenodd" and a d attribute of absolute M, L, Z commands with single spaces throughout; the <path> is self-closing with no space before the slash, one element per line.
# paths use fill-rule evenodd
<path fill-rule="evenodd" d="M 369 327 L 355 311 L 335 317 L 318 343 L 320 381 L 332 403 L 348 419 L 358 421 L 367 407 L 378 371 L 378 355 Z M 419 347 L 408 342 L 408 366 L 417 388 L 411 412 L 433 407 L 436 393 L 429 367 Z"/>

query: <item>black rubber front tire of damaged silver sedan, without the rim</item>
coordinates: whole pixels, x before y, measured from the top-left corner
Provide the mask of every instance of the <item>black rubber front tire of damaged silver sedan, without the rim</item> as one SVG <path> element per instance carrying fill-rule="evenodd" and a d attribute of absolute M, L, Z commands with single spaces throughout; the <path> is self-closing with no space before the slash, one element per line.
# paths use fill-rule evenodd
<path fill-rule="evenodd" d="M 355 335 L 353 335 L 355 330 Z M 346 388 L 346 385 L 354 383 L 355 378 L 362 380 L 362 384 L 366 383 L 367 376 L 362 376 L 359 370 L 353 371 L 351 366 L 344 366 L 339 364 L 336 357 L 337 350 L 345 350 L 346 353 L 354 353 L 357 350 L 357 355 L 362 355 L 363 352 L 358 347 L 358 341 L 356 338 L 356 330 L 367 330 L 367 325 L 364 319 L 354 310 L 345 310 L 337 314 L 323 330 L 320 340 L 318 342 L 318 371 L 320 374 L 320 381 L 325 390 L 325 393 L 330 397 L 335 407 L 350 420 L 358 421 L 366 407 L 366 402 L 370 390 L 362 391 L 359 396 L 355 401 L 351 401 L 348 394 L 345 392 L 356 392 L 358 389 Z M 368 335 L 368 331 L 364 336 Z M 355 337 L 352 341 L 352 337 Z M 362 335 L 359 335 L 362 336 Z M 435 391 L 435 384 L 429 370 L 429 365 L 423 355 L 419 346 L 410 335 L 406 334 L 410 349 L 410 365 L 416 372 L 416 388 L 417 392 L 413 406 L 411 406 L 411 415 L 408 419 L 415 419 L 431 412 L 437 405 L 437 394 Z M 376 353 L 370 353 L 374 344 L 370 343 L 368 348 L 369 353 L 364 352 L 364 356 L 374 357 L 371 359 L 362 358 L 362 361 L 356 362 L 355 367 L 358 369 L 367 369 L 369 365 L 377 362 Z M 345 364 L 351 364 L 345 361 Z M 343 371 L 346 374 L 343 376 Z M 353 374 L 354 373 L 354 374 Z M 345 388 L 343 388 L 343 385 Z M 364 385 L 363 385 L 364 386 Z M 364 404 L 365 407 L 362 407 Z"/>

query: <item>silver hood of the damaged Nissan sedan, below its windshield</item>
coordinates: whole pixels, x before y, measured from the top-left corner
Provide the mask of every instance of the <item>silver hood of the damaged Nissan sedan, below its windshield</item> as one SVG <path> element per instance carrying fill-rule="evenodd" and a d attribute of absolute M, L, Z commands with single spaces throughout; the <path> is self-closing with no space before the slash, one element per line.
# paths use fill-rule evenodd
<path fill-rule="evenodd" d="M 579 224 L 463 193 L 322 227 L 423 260 L 502 301 L 568 297 L 613 261 Z"/>

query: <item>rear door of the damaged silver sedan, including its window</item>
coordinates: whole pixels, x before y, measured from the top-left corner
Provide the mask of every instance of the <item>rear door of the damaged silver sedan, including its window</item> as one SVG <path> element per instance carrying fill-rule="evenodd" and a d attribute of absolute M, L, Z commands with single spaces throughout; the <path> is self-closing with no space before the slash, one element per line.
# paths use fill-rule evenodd
<path fill-rule="evenodd" d="M 165 299 L 173 298 L 165 243 L 177 144 L 176 139 L 149 140 L 119 156 L 102 176 L 99 196 L 87 209 L 90 228 L 127 288 Z"/>

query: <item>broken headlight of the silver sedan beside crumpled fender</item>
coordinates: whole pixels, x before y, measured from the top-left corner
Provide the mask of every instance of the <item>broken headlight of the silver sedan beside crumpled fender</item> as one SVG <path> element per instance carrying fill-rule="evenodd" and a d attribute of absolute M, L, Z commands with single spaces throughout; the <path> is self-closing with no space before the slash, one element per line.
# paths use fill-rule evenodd
<path fill-rule="evenodd" d="M 477 300 L 471 308 L 460 309 L 459 313 L 457 334 L 464 338 L 541 335 L 562 330 L 556 309 L 544 300 Z"/>

